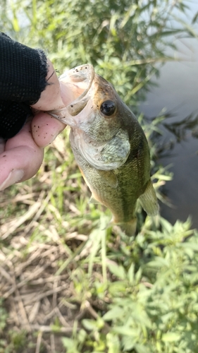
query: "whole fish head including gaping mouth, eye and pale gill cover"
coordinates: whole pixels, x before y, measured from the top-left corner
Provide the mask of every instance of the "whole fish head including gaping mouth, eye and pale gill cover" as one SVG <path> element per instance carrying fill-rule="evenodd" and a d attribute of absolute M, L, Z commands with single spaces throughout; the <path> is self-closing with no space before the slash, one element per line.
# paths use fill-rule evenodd
<path fill-rule="evenodd" d="M 97 169 L 120 167 L 130 153 L 130 109 L 113 85 L 95 73 L 92 65 L 73 68 L 59 80 L 73 90 L 75 100 L 49 114 L 70 126 L 72 147 Z"/>

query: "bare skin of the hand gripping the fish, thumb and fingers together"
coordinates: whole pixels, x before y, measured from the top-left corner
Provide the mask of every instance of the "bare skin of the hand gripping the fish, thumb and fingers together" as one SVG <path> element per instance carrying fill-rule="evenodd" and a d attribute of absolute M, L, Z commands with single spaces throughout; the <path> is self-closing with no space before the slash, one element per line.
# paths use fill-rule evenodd
<path fill-rule="evenodd" d="M 66 85 L 59 83 L 54 67 L 49 62 L 47 88 L 32 107 L 39 110 L 61 109 L 70 104 L 74 96 Z M 0 140 L 0 191 L 19 181 L 33 177 L 42 164 L 44 147 L 49 145 L 66 125 L 49 114 L 38 112 L 32 121 L 27 121 L 21 131 L 5 140 Z"/>

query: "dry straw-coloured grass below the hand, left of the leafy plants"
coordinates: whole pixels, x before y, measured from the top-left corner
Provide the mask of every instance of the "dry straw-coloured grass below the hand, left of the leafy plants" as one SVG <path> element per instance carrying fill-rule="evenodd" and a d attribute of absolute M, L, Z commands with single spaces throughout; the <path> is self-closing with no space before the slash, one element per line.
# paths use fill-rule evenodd
<path fill-rule="evenodd" d="M 1 193 L 0 297 L 8 328 L 31 339 L 38 333 L 28 352 L 59 352 L 59 334 L 72 333 L 75 320 L 94 312 L 81 312 L 70 277 L 91 250 L 86 242 L 94 220 L 66 140 L 56 139 L 37 177 Z"/>

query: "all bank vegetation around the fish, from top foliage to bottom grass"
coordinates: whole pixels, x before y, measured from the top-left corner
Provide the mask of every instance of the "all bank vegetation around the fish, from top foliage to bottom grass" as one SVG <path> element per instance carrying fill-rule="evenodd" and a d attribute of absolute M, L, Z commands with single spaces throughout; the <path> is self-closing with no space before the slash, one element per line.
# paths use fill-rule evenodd
<path fill-rule="evenodd" d="M 164 54 L 173 38 L 197 40 L 187 3 L 4 0 L 0 8 L 4 32 L 47 50 L 60 73 L 89 62 L 113 83 L 147 136 L 162 202 L 173 175 L 159 165 L 154 137 L 166 115 L 148 122 L 138 101 L 159 63 L 173 59 Z M 34 178 L 1 192 L 0 353 L 198 352 L 197 229 L 190 218 L 146 217 L 139 203 L 136 237 L 109 227 L 109 210 L 88 204 L 68 133 L 46 148 Z"/>

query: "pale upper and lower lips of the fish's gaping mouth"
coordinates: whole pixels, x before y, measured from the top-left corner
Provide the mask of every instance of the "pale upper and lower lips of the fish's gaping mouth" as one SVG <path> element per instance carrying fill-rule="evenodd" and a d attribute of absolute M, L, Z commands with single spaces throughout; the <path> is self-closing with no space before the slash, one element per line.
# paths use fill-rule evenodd
<path fill-rule="evenodd" d="M 80 79 L 80 73 L 82 73 L 82 78 Z M 83 78 L 84 73 L 84 78 Z M 76 77 L 75 77 L 76 76 Z M 66 71 L 59 77 L 60 81 L 64 79 L 73 78 L 73 81 L 76 83 L 80 83 L 83 80 L 87 80 L 87 88 L 82 92 L 82 94 L 77 97 L 72 103 L 68 104 L 66 107 L 62 109 L 50 110 L 47 113 L 54 118 L 62 121 L 64 124 L 69 125 L 71 127 L 75 127 L 75 120 L 73 119 L 74 116 L 78 115 L 82 109 L 84 109 L 89 101 L 91 90 L 92 90 L 92 83 L 95 77 L 95 71 L 92 64 L 83 64 L 80 66 L 76 66 L 75 68 Z M 78 109 L 79 106 L 79 109 Z M 77 107 L 77 112 L 75 108 Z"/>

